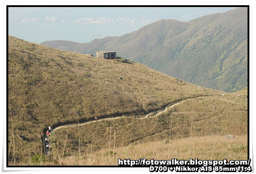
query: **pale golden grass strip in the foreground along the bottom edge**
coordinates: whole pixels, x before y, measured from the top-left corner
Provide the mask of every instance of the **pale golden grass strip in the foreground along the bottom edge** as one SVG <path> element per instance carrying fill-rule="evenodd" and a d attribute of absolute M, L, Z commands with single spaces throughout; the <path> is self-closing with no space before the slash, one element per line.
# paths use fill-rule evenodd
<path fill-rule="evenodd" d="M 113 152 L 113 147 L 112 147 Z M 225 136 L 194 136 L 179 140 L 161 140 L 120 147 L 110 153 L 102 149 L 83 156 L 83 165 L 117 165 L 118 159 L 247 159 L 247 135 L 236 138 Z M 78 157 L 63 159 L 61 165 L 78 165 Z"/>

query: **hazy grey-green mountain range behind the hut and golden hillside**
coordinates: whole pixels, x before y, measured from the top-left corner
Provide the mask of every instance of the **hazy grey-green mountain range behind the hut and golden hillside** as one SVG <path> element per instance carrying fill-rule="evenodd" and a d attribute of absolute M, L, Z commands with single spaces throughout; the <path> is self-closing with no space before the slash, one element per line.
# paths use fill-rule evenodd
<path fill-rule="evenodd" d="M 58 40 L 41 44 L 82 54 L 116 51 L 120 57 L 166 75 L 225 92 L 239 91 L 248 83 L 247 8 L 189 22 L 158 20 L 138 31 L 90 43 Z"/>

